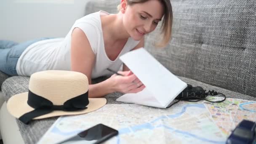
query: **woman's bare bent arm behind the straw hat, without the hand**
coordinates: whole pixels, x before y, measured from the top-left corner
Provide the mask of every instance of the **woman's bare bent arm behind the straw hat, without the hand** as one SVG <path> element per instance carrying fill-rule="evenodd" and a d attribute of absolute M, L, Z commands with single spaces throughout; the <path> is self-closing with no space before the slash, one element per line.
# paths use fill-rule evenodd
<path fill-rule="evenodd" d="M 71 39 L 71 70 L 85 74 L 89 82 L 89 97 L 102 97 L 112 93 L 107 81 L 91 85 L 91 72 L 95 64 L 95 55 L 85 33 L 75 28 Z"/>

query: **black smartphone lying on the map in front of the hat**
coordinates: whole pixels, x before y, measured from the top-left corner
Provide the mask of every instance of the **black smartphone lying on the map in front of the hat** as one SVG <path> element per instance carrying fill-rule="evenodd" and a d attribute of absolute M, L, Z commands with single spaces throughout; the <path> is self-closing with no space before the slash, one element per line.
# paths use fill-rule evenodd
<path fill-rule="evenodd" d="M 117 134 L 117 130 L 98 124 L 58 144 L 100 144 Z"/>

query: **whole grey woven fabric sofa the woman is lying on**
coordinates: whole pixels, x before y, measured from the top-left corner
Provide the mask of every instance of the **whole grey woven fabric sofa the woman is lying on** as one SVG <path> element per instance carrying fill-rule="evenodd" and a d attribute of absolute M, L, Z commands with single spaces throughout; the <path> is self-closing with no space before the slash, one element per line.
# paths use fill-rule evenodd
<path fill-rule="evenodd" d="M 115 13 L 119 2 L 90 0 L 85 14 L 99 10 Z M 255 0 L 171 0 L 171 3 L 172 40 L 166 48 L 154 48 L 152 42 L 159 37 L 158 27 L 147 35 L 145 48 L 188 84 L 216 90 L 228 98 L 256 101 Z M 0 82 L 6 77 L 0 73 Z M 28 83 L 29 77 L 6 79 L 2 85 L 5 101 L 28 91 Z M 120 104 L 115 101 L 119 96 L 121 93 L 107 95 L 107 104 Z M 16 120 L 15 124 L 24 143 L 34 144 L 57 118 L 35 120 L 29 125 Z M 1 133 L 5 131 L 1 128 Z"/>

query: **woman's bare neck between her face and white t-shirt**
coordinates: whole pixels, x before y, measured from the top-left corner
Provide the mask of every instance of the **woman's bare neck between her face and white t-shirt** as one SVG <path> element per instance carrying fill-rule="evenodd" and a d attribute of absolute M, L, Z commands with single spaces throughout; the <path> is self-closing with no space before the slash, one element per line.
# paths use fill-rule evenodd
<path fill-rule="evenodd" d="M 107 40 L 111 40 L 114 43 L 116 41 L 127 40 L 130 37 L 123 26 L 122 19 L 122 13 L 101 17 L 103 35 Z"/>

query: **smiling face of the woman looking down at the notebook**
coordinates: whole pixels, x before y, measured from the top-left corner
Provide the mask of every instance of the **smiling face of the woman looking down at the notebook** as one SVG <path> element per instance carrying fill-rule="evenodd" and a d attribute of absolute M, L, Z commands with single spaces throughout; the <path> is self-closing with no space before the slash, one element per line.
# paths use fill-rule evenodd
<path fill-rule="evenodd" d="M 163 17 L 163 5 L 159 0 L 127 5 L 123 15 L 123 24 L 133 40 L 141 38 L 157 27 Z"/>

